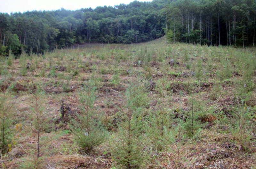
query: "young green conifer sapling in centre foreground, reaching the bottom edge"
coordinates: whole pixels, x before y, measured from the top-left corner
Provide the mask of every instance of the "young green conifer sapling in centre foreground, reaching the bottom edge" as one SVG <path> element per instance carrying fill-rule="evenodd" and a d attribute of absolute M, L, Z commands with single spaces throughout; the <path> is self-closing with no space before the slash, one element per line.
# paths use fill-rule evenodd
<path fill-rule="evenodd" d="M 119 124 L 118 132 L 113 134 L 111 140 L 111 149 L 114 160 L 123 168 L 136 169 L 141 168 L 145 160 L 143 147 L 144 124 L 141 120 L 141 107 L 138 107 L 140 93 L 136 86 L 129 86 L 126 91 L 127 109 L 125 120 Z"/>

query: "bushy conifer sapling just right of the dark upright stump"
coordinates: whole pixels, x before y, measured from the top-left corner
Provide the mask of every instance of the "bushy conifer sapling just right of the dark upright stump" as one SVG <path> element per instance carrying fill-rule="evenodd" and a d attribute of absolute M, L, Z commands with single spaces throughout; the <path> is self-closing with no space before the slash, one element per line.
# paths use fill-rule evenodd
<path fill-rule="evenodd" d="M 73 121 L 70 127 L 81 151 L 90 154 L 95 146 L 105 140 L 106 136 L 94 107 L 96 87 L 93 81 L 88 81 L 84 85 L 79 94 L 79 99 L 81 114 L 77 115 L 79 120 Z"/>

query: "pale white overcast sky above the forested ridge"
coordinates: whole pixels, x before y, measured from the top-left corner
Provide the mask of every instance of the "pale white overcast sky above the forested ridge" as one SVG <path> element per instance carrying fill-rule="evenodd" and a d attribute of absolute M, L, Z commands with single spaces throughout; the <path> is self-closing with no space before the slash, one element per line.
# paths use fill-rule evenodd
<path fill-rule="evenodd" d="M 129 4 L 134 0 L 0 0 L 0 12 L 52 11 L 61 8 L 78 10 L 81 8 L 96 8 L 97 6 L 114 6 Z M 152 0 L 139 0 L 152 1 Z"/>

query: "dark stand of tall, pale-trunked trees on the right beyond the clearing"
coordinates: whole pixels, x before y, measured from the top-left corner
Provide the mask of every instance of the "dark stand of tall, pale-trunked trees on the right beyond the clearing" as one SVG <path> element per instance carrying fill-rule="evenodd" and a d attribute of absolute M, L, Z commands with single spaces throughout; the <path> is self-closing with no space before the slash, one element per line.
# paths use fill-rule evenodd
<path fill-rule="evenodd" d="M 169 39 L 173 41 L 255 45 L 255 0 L 177 0 L 169 2 L 162 11 Z"/>

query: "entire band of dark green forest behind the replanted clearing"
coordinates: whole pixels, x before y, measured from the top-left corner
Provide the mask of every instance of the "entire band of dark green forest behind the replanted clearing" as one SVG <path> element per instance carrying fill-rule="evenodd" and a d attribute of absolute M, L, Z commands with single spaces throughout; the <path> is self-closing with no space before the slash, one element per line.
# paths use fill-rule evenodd
<path fill-rule="evenodd" d="M 0 54 L 36 54 L 86 42 L 254 46 L 255 0 L 154 0 L 76 11 L 0 13 Z"/>

